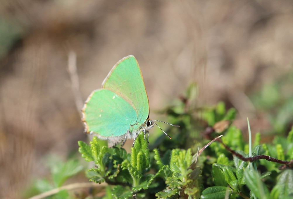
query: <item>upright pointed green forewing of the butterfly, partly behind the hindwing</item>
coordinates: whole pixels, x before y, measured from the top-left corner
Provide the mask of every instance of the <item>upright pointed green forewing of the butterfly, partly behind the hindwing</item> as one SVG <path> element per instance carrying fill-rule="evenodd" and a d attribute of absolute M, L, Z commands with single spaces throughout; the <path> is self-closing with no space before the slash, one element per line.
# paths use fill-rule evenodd
<path fill-rule="evenodd" d="M 103 88 L 111 90 L 127 101 L 137 112 L 136 124 L 149 117 L 149 100 L 137 60 L 129 55 L 120 60 L 105 78 Z"/>

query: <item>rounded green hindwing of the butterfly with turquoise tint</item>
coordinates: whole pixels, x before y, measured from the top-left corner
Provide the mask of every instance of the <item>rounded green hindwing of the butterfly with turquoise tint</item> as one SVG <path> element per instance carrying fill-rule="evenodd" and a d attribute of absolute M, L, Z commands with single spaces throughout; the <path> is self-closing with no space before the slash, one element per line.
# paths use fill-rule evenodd
<path fill-rule="evenodd" d="M 87 132 L 95 132 L 104 137 L 125 135 L 130 125 L 137 121 L 134 108 L 122 97 L 106 89 L 91 93 L 83 113 Z"/>

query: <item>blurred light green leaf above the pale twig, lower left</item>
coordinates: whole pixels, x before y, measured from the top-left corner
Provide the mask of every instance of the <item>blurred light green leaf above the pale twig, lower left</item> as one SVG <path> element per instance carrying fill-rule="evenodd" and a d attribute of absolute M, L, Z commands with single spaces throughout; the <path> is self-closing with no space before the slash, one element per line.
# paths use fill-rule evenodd
<path fill-rule="evenodd" d="M 68 160 L 65 163 L 60 163 L 52 168 L 52 179 L 57 187 L 62 186 L 65 180 L 79 173 L 83 167 L 79 165 L 78 160 Z"/>

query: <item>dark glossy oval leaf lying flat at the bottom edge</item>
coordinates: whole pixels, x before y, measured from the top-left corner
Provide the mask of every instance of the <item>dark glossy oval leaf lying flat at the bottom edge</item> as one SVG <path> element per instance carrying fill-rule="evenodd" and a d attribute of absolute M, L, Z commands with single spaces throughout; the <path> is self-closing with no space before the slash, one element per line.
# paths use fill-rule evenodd
<path fill-rule="evenodd" d="M 212 186 L 202 191 L 201 199 L 221 199 L 225 198 L 226 194 L 231 195 L 233 190 L 226 186 Z"/>

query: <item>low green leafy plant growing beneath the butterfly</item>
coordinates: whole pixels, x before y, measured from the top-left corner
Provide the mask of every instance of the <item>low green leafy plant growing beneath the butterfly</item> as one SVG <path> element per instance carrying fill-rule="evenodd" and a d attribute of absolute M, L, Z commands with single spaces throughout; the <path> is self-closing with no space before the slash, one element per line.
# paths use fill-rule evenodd
<path fill-rule="evenodd" d="M 150 137 L 149 145 L 141 133 L 131 153 L 99 144 L 97 137 L 89 144 L 78 142 L 84 160 L 94 163 L 86 176 L 103 187 L 92 198 L 292 198 L 293 130 L 268 144 L 260 144 L 257 133 L 249 147 L 241 130 L 232 125 L 236 110 L 226 110 L 223 102 L 198 109 L 196 93 L 192 84 L 164 111 L 168 121 L 180 125 L 166 128 L 171 140 L 163 135 L 152 142 Z M 218 142 L 199 150 L 219 133 L 224 136 Z M 59 167 L 63 174 L 52 170 L 54 183 L 43 180 L 39 186 L 43 184 L 44 191 L 60 186 L 74 173 L 66 173 L 66 168 L 71 167 Z M 65 192 L 59 194 L 65 197 Z"/>

